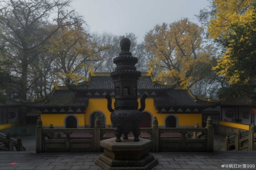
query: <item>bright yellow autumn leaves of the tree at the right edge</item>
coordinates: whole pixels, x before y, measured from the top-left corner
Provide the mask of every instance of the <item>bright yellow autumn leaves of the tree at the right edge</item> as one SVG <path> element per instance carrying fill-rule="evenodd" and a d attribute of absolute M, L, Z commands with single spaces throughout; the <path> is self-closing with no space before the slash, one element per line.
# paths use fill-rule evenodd
<path fill-rule="evenodd" d="M 239 50 L 241 53 L 246 53 L 243 45 L 250 46 L 252 44 L 249 39 L 251 34 L 237 35 L 236 28 L 248 27 L 248 30 L 252 32 L 256 31 L 255 25 L 255 0 L 215 0 L 217 12 L 215 18 L 210 20 L 208 32 L 209 36 L 213 39 L 220 38 L 226 39 L 225 45 L 226 52 L 217 60 L 218 65 L 212 69 L 218 70 L 217 75 L 224 76 L 228 80 L 229 84 L 249 82 L 252 75 L 247 75 L 243 66 L 237 66 L 238 63 L 245 61 L 239 54 L 236 55 Z M 232 36 L 232 38 L 230 38 Z M 233 38 L 236 37 L 236 38 Z M 239 49 L 237 45 L 239 46 Z M 234 53 L 236 51 L 236 53 Z"/>

